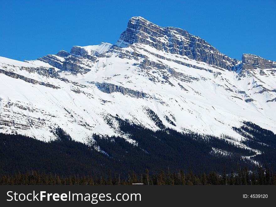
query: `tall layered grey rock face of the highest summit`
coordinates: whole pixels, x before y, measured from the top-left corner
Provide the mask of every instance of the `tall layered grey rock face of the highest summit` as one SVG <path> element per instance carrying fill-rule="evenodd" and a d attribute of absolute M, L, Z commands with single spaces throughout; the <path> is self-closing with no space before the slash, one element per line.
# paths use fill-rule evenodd
<path fill-rule="evenodd" d="M 220 53 L 215 47 L 186 30 L 174 27 L 160 27 L 142 17 L 132 17 L 127 29 L 122 32 L 116 46 L 127 47 L 133 43 L 142 43 L 173 54 L 188 56 L 220 68 L 231 69 L 238 63 Z"/>

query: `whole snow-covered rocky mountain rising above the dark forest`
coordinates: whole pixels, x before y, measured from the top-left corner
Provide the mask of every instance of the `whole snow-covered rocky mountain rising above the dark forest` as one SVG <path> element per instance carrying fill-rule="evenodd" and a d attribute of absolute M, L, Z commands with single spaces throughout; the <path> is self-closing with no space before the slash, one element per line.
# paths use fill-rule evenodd
<path fill-rule="evenodd" d="M 186 30 L 129 20 L 115 45 L 73 46 L 37 60 L 0 57 L 0 132 L 55 139 L 59 126 L 87 142 L 120 135 L 115 116 L 153 130 L 237 139 L 251 121 L 276 133 L 276 62 L 232 59 Z M 110 124 L 110 122 L 112 124 Z"/>

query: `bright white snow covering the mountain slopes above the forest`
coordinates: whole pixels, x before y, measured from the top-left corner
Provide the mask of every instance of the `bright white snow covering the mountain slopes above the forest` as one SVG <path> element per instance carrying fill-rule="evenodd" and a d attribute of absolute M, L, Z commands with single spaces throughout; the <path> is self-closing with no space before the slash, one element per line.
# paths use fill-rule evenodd
<path fill-rule="evenodd" d="M 239 77 L 238 71 L 213 68 L 207 63 L 158 51 L 147 45 L 133 44 L 115 52 L 109 50 L 111 46 L 109 43 L 84 46 L 89 54 L 97 53 L 102 56 L 95 56 L 95 63 L 82 60 L 82 66 L 91 69 L 86 74 L 73 75 L 59 71 L 60 76 L 68 79 L 69 83 L 29 73 L 20 68 L 50 68 L 47 63 L 38 60 L 25 63 L 0 57 L 0 69 L 60 88 L 31 84 L 0 74 L 1 121 L 14 122 L 11 126 L 0 124 L 0 131 L 12 133 L 16 130 L 18 133 L 49 140 L 54 139 L 50 127 L 60 126 L 66 129 L 73 139 L 82 142 L 86 142 L 92 133 L 121 135 L 118 128 L 110 128 L 107 125 L 104 116 L 108 114 L 118 114 L 122 119 L 129 119 L 133 123 L 157 130 L 158 127 L 145 113 L 144 109 L 148 107 L 157 113 L 166 126 L 178 131 L 216 136 L 227 134 L 240 140 L 241 136 L 234 132 L 232 127 L 239 127 L 242 121 L 252 121 L 276 133 L 276 103 L 266 102 L 276 97 L 276 92 L 273 92 L 276 88 L 276 77 L 269 75 L 269 69 L 264 70 L 267 75 L 260 75 L 256 70 L 254 75 L 247 73 L 244 77 Z M 140 68 L 144 58 L 121 58 L 121 52 L 136 52 L 147 56 L 149 61 L 166 67 Z M 158 58 L 157 55 L 164 58 Z M 206 70 L 189 68 L 170 59 Z M 179 75 L 173 76 L 170 70 Z M 174 86 L 166 83 L 165 76 Z M 144 92 L 148 97 L 135 98 L 119 92 L 103 93 L 93 84 L 95 82 L 120 85 Z M 270 91 L 259 93 L 262 87 Z M 248 98 L 255 101 L 245 102 Z M 165 116 L 170 114 L 175 117 L 173 122 L 176 127 L 165 119 Z M 24 127 L 21 124 L 24 124 Z M 124 139 L 136 143 L 128 135 L 124 135 Z"/>

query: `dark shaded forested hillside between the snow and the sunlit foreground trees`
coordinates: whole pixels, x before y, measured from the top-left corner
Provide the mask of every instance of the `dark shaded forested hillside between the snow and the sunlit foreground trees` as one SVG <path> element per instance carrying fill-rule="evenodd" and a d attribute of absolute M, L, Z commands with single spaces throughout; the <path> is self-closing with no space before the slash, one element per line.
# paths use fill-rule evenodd
<path fill-rule="evenodd" d="M 244 123 L 242 128 L 235 129 L 247 132 L 241 144 L 247 142 L 251 149 L 232 143 L 227 136 L 180 133 L 170 128 L 152 131 L 126 120 L 117 120 L 120 129 L 137 140 L 136 144 L 121 137 L 96 134 L 91 143 L 83 144 L 72 140 L 61 128 L 52 130 L 57 139 L 50 142 L 0 133 L 0 174 L 37 171 L 61 177 L 107 176 L 110 169 L 113 174 L 125 177 L 132 172 L 140 175 L 145 169 L 151 175 L 169 169 L 171 172 L 191 170 L 196 174 L 215 172 L 222 175 L 223 166 L 226 174 L 231 174 L 237 166 L 245 167 L 252 174 L 265 165 L 275 170 L 275 134 L 253 123 Z M 256 149 L 262 154 L 256 153 Z"/>

